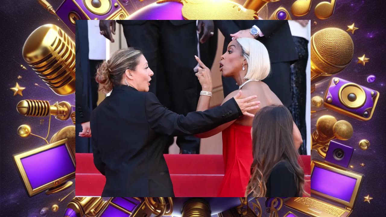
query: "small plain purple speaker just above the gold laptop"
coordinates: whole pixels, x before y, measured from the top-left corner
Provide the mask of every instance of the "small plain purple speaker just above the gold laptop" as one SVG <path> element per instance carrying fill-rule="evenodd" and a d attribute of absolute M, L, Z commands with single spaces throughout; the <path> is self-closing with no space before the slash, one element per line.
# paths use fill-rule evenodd
<path fill-rule="evenodd" d="M 325 161 L 347 168 L 349 166 L 354 149 L 335 141 L 330 141 Z"/>

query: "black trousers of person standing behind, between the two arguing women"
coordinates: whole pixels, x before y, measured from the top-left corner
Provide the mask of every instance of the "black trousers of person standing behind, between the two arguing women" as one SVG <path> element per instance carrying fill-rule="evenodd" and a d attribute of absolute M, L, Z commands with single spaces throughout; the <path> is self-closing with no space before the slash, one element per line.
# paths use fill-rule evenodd
<path fill-rule="evenodd" d="M 148 20 L 141 25 L 123 25 L 123 29 L 127 45 L 141 49 L 154 72 L 149 91 L 173 112 L 186 115 L 195 111 L 201 89 L 193 70 L 197 64 L 194 55 L 198 55 L 196 23 L 173 25 L 166 20 Z M 168 141 L 172 144 L 173 138 Z M 179 136 L 177 145 L 199 153 L 200 139 Z"/>

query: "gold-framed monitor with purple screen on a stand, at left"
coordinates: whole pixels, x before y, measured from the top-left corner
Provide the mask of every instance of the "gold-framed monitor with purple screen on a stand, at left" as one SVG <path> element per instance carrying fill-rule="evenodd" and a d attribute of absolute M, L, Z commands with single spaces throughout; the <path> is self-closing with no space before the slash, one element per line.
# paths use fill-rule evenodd
<path fill-rule="evenodd" d="M 29 196 L 75 176 L 75 158 L 67 139 L 13 156 Z"/>

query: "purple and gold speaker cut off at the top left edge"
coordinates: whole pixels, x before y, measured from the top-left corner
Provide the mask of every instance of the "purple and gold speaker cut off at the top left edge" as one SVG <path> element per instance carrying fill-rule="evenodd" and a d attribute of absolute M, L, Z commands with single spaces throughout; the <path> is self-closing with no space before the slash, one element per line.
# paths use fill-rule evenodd
<path fill-rule="evenodd" d="M 74 33 L 75 20 L 124 20 L 129 17 L 117 0 L 64 0 L 55 12 Z"/>

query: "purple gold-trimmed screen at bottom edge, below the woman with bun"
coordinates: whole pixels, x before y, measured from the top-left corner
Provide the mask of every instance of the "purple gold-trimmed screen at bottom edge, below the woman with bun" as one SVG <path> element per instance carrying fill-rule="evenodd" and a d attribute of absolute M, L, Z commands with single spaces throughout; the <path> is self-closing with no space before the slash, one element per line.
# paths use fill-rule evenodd
<path fill-rule="evenodd" d="M 137 198 L 115 197 L 100 217 L 130 217 L 140 204 Z"/>

